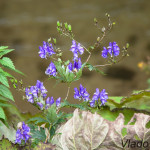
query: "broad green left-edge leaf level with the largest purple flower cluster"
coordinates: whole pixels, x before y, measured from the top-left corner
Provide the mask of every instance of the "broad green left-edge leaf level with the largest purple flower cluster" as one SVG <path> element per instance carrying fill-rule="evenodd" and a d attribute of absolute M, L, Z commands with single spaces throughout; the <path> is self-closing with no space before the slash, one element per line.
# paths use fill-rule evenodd
<path fill-rule="evenodd" d="M 6 97 L 8 99 L 11 99 L 12 101 L 14 101 L 14 98 L 13 98 L 11 92 L 4 85 L 0 85 L 0 95 Z"/>

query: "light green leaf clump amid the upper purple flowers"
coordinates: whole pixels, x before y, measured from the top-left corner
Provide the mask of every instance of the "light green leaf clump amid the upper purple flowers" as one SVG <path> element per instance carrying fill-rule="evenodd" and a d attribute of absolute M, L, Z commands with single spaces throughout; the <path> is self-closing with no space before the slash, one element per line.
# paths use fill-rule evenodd
<path fill-rule="evenodd" d="M 62 65 L 62 61 L 54 62 L 57 69 L 57 76 L 53 77 L 58 80 L 58 82 L 67 82 L 71 83 L 73 81 L 79 80 L 82 75 L 83 66 L 77 72 L 69 72 L 67 65 L 69 61 L 66 61 L 64 65 Z"/>

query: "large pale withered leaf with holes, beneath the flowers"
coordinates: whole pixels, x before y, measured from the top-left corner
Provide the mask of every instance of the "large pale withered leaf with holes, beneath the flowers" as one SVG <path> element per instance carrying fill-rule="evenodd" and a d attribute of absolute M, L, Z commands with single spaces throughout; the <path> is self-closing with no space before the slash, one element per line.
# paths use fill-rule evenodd
<path fill-rule="evenodd" d="M 135 113 L 128 124 L 124 125 L 121 113 L 112 122 L 97 113 L 79 112 L 76 109 L 73 117 L 57 129 L 56 133 L 61 134 L 53 137 L 52 144 L 56 145 L 57 150 L 135 150 L 138 149 L 135 143 L 137 140 L 150 142 L 150 129 L 147 128 L 149 121 L 149 115 Z M 127 139 L 133 142 L 128 143 Z M 132 146 L 128 148 L 128 144 Z"/>

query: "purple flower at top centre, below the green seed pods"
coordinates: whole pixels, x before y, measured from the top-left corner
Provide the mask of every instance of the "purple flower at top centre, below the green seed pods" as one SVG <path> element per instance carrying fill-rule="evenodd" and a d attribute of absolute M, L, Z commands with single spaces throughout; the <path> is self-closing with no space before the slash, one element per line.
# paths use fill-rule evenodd
<path fill-rule="evenodd" d="M 80 43 L 76 44 L 75 40 L 72 41 L 72 46 L 71 46 L 70 51 L 73 52 L 73 55 L 74 55 L 73 60 L 74 61 L 78 59 L 78 54 L 82 55 L 84 53 L 84 49 L 81 46 L 81 44 Z"/>

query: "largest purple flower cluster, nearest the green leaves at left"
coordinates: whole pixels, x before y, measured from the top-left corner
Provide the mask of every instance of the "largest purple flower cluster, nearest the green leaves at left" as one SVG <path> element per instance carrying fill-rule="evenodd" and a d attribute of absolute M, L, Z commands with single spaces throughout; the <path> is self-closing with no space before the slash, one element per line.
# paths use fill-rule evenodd
<path fill-rule="evenodd" d="M 47 96 L 46 94 L 47 90 L 43 86 L 43 82 L 40 82 L 37 80 L 36 86 L 31 86 L 30 88 L 25 89 L 25 94 L 28 99 L 28 102 L 34 103 L 35 99 L 37 99 L 39 96 L 45 98 Z M 43 104 L 40 102 L 37 103 L 40 108 L 43 108 Z"/>

